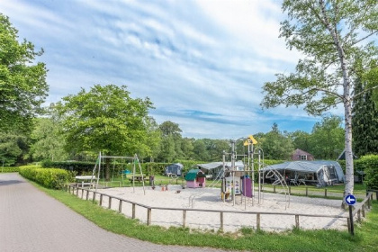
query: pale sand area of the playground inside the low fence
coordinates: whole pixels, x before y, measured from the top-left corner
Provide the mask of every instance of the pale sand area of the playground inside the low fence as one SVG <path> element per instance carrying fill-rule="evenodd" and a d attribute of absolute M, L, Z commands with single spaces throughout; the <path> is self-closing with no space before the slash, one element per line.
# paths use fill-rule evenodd
<path fill-rule="evenodd" d="M 135 190 L 135 192 L 134 192 Z M 258 204 L 257 197 L 247 198 L 242 202 L 242 197 L 235 198 L 235 204 L 228 199 L 223 202 L 220 199 L 218 188 L 185 188 L 181 185 L 169 185 L 168 190 L 162 191 L 160 186 L 153 190 L 145 187 L 121 187 L 98 189 L 98 193 L 105 193 L 128 200 L 138 202 L 150 207 L 165 207 L 178 209 L 202 209 L 218 211 L 239 211 L 240 213 L 223 213 L 223 231 L 235 232 L 242 228 L 257 229 L 257 214 L 242 214 L 245 211 L 262 212 L 260 215 L 260 228 L 266 231 L 284 231 L 293 229 L 295 217 L 293 215 L 264 214 L 263 212 L 333 215 L 347 217 L 347 212 L 340 208 L 340 200 L 328 200 L 320 198 L 307 198 L 290 196 L 290 204 L 285 199 L 287 196 L 279 193 L 261 193 Z M 246 199 L 246 198 L 244 198 Z M 108 205 L 108 197 L 103 197 L 103 206 Z M 119 210 L 118 201 L 112 202 L 112 209 Z M 132 207 L 128 202 L 122 202 L 122 213 L 132 216 Z M 136 206 L 135 217 L 146 223 L 148 211 L 146 208 Z M 301 229 L 347 229 L 346 218 L 331 217 L 299 217 Z M 151 211 L 151 224 L 164 227 L 182 227 L 183 211 L 157 210 Z M 220 213 L 210 211 L 186 211 L 186 227 L 190 229 L 214 230 L 220 229 Z"/>

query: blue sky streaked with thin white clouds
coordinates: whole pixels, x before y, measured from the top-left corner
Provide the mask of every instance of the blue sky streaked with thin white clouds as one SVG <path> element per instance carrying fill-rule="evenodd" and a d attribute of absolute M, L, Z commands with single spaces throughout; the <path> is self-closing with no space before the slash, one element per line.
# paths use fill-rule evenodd
<path fill-rule="evenodd" d="M 298 51 L 279 38 L 277 0 L 1 0 L 0 13 L 44 53 L 56 103 L 93 85 L 127 85 L 183 137 L 238 139 L 311 131 L 302 108 L 263 110 L 262 86 L 293 72 Z M 338 114 L 341 115 L 341 114 Z"/>

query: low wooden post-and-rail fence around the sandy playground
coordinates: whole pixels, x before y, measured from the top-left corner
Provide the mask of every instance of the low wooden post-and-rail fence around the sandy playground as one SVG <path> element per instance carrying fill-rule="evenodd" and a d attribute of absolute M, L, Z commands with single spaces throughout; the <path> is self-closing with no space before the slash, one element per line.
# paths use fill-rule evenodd
<path fill-rule="evenodd" d="M 305 213 L 290 213 L 290 212 L 261 212 L 261 211 L 221 211 L 221 210 L 208 210 L 208 209 L 193 209 L 193 208 L 168 208 L 168 207 L 152 207 L 148 206 L 145 204 L 141 204 L 138 202 L 131 202 L 126 199 L 121 199 L 119 197 L 115 197 L 106 193 L 98 193 L 94 192 L 94 190 L 78 187 L 77 185 L 67 185 L 66 186 L 66 191 L 68 193 L 76 194 L 78 197 L 79 191 L 81 190 L 81 199 L 84 199 L 88 201 L 90 200 L 90 193 L 92 194 L 92 202 L 95 202 L 96 195 L 99 195 L 99 202 L 98 204 L 100 206 L 103 206 L 103 197 L 107 197 L 109 199 L 107 208 L 111 209 L 112 208 L 112 202 L 118 201 L 118 211 L 121 213 L 122 211 L 122 202 L 129 202 L 131 204 L 131 218 L 135 219 L 136 218 L 136 206 L 145 208 L 147 210 L 147 225 L 151 224 L 151 219 L 152 219 L 152 210 L 163 210 L 163 211 L 182 211 L 183 212 L 183 222 L 182 226 L 185 228 L 186 227 L 186 212 L 187 211 L 206 211 L 206 212 L 217 212 L 220 214 L 220 230 L 223 230 L 224 227 L 224 213 L 238 213 L 238 214 L 256 214 L 257 216 L 257 223 L 256 227 L 257 230 L 261 229 L 261 216 L 262 215 L 282 215 L 282 216 L 293 216 L 293 220 L 295 221 L 295 228 L 299 229 L 301 227 L 300 225 L 300 217 L 314 217 L 314 218 L 334 218 L 334 219 L 347 219 L 347 227 L 348 230 L 351 230 L 351 224 L 349 217 L 347 216 L 339 216 L 339 215 L 321 215 L 321 214 L 305 214 Z M 365 208 L 367 207 L 368 209 L 371 208 L 372 202 L 373 201 L 373 192 L 367 193 L 365 200 L 359 205 L 358 208 L 353 211 L 353 216 L 357 214 L 357 221 L 361 221 L 361 215 L 362 217 L 365 217 Z"/>

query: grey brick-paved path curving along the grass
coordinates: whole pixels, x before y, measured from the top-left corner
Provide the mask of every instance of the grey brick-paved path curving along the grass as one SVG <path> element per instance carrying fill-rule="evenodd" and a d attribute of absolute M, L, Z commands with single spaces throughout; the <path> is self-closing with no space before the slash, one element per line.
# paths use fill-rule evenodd
<path fill-rule="evenodd" d="M 0 174 L 0 252 L 225 251 L 163 246 L 113 234 L 40 192 L 21 175 Z"/>

